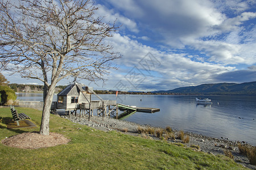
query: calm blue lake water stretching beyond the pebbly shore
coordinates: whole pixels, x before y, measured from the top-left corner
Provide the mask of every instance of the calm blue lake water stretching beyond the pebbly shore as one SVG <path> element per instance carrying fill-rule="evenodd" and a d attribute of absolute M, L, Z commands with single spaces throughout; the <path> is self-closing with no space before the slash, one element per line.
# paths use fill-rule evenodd
<path fill-rule="evenodd" d="M 18 94 L 18 100 L 42 101 L 42 94 Z M 256 145 L 256 96 L 100 95 L 105 100 L 160 112 L 137 112 L 125 120 L 165 128 L 246 141 Z M 98 100 L 93 96 L 93 100 Z M 212 99 L 212 105 L 196 104 L 195 98 Z M 53 101 L 56 101 L 56 96 Z M 94 112 L 96 113 L 96 112 Z"/>

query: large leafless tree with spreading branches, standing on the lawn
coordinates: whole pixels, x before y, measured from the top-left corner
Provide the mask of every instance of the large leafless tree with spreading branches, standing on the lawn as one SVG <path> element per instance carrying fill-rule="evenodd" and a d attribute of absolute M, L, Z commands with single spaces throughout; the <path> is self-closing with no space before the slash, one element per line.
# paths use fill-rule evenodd
<path fill-rule="evenodd" d="M 121 57 L 105 39 L 118 28 L 97 17 L 90 0 L 14 2 L 0 2 L 1 68 L 44 83 L 40 134 L 48 135 L 56 83 L 69 76 L 104 80 Z"/>

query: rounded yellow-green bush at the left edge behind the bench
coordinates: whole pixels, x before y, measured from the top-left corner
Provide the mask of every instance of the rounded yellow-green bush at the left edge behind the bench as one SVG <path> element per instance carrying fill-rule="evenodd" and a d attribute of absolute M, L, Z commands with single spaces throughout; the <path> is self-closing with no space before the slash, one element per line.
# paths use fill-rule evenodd
<path fill-rule="evenodd" d="M 11 90 L 9 86 L 0 86 L 1 102 L 3 104 L 13 104 L 17 96 L 14 90 Z"/>

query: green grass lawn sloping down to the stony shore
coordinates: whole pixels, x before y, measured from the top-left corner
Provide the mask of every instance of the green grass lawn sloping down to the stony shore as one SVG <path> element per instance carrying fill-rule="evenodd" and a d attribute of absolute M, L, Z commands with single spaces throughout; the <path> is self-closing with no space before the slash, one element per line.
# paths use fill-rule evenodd
<path fill-rule="evenodd" d="M 42 111 L 16 108 L 38 128 L 7 129 L 0 123 L 0 139 L 27 131 L 39 131 Z M 11 118 L 10 108 L 0 117 Z M 0 119 L 1 119 L 0 118 Z M 75 124 L 51 114 L 50 131 L 71 139 L 67 145 L 20 149 L 0 143 L 0 169 L 244 169 L 225 156 L 213 156 L 190 148 Z"/>

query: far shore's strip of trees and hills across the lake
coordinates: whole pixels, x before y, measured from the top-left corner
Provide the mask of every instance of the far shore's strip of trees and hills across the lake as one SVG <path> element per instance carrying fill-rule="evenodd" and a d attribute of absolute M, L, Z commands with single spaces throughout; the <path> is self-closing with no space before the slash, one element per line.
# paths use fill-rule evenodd
<path fill-rule="evenodd" d="M 15 92 L 43 92 L 43 86 L 32 84 L 9 84 Z M 56 86 L 60 92 L 67 86 Z M 115 94 L 115 90 L 94 90 L 97 94 Z M 201 84 L 175 88 L 168 91 L 118 91 L 119 95 L 256 95 L 256 82 Z"/>

